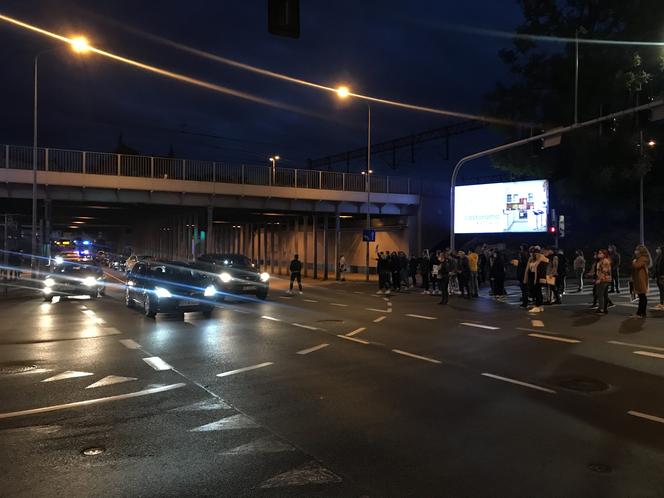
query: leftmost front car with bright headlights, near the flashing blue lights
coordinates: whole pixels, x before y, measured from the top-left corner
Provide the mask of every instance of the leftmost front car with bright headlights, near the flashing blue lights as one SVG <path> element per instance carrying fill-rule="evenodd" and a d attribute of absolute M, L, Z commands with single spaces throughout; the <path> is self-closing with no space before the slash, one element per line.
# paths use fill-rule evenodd
<path fill-rule="evenodd" d="M 55 296 L 87 295 L 96 299 L 106 294 L 104 271 L 99 263 L 74 253 L 56 256 L 42 284 L 45 301 L 52 301 Z"/>

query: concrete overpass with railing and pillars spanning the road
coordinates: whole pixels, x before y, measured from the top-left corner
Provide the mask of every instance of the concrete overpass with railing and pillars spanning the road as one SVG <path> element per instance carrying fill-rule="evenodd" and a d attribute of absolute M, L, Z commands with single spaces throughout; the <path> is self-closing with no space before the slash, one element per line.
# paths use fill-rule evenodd
<path fill-rule="evenodd" d="M 0 154 L 0 196 L 30 199 L 32 147 L 3 145 Z M 44 233 L 54 203 L 118 205 L 134 209 L 122 243 L 136 252 L 192 258 L 232 250 L 277 271 L 299 252 L 317 276 L 340 254 L 363 271 L 369 209 L 382 248 L 421 248 L 422 185 L 407 177 L 371 175 L 367 203 L 361 174 L 47 148 L 36 155 Z M 202 229 L 206 240 L 196 245 Z"/>

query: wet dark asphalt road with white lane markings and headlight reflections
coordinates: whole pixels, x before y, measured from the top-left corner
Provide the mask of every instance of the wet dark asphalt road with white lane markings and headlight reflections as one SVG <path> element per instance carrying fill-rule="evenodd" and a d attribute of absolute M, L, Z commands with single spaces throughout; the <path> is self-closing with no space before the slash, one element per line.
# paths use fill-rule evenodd
<path fill-rule="evenodd" d="M 0 301 L 1 494 L 664 496 L 664 312 L 305 285 Z"/>

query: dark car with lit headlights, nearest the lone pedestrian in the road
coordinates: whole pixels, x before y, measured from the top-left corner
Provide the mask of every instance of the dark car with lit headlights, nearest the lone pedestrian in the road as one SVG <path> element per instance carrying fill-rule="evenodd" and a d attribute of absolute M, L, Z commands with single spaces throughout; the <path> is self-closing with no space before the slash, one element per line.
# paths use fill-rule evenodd
<path fill-rule="evenodd" d="M 249 258 L 241 254 L 203 254 L 196 260 L 196 267 L 215 279 L 220 291 L 218 300 L 228 294 L 253 294 L 267 299 L 270 290 L 270 274 L 261 272 Z"/>

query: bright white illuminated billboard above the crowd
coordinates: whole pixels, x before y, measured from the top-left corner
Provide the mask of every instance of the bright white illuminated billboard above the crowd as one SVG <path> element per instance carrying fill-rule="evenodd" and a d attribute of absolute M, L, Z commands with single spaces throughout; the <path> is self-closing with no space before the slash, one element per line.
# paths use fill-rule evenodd
<path fill-rule="evenodd" d="M 456 187 L 456 233 L 546 232 L 548 180 Z"/>

